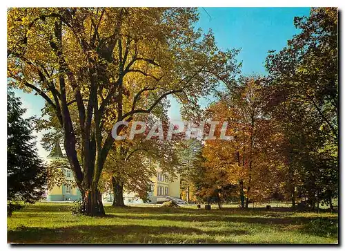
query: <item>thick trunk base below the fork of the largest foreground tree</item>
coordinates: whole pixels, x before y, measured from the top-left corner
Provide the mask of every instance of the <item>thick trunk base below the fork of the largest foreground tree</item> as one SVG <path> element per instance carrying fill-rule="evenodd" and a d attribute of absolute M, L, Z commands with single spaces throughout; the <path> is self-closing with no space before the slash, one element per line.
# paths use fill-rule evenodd
<path fill-rule="evenodd" d="M 104 207 L 99 189 L 93 187 L 86 189 L 83 194 L 83 215 L 105 216 Z"/>

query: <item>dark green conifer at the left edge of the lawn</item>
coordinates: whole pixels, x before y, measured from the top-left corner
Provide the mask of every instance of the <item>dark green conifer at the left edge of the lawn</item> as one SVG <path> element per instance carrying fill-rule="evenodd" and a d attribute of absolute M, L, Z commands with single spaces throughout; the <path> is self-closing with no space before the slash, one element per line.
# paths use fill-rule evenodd
<path fill-rule="evenodd" d="M 26 109 L 14 92 L 8 91 L 7 99 L 7 200 L 8 214 L 12 214 L 19 203 L 34 203 L 42 197 L 46 167 L 32 136 L 33 118 L 23 118 Z"/>

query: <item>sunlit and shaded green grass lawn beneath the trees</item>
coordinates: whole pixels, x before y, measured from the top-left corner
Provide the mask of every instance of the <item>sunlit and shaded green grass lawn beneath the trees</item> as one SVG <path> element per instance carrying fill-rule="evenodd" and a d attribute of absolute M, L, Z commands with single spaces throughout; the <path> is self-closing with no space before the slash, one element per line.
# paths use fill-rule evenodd
<path fill-rule="evenodd" d="M 264 208 L 106 205 L 106 217 L 72 215 L 68 203 L 37 203 L 8 218 L 9 243 L 337 243 L 338 216 Z"/>

